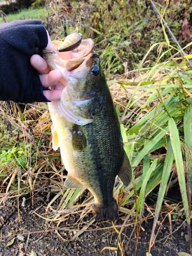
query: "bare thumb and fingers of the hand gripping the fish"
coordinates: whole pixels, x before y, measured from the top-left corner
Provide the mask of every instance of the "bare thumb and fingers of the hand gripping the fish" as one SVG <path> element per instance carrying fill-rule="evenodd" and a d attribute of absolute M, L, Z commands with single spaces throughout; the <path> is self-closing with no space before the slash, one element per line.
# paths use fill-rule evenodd
<path fill-rule="evenodd" d="M 56 48 L 54 47 L 51 38 L 48 34 L 48 45 L 46 49 L 48 51 L 54 51 Z M 50 70 L 50 68 L 47 65 L 47 62 L 44 58 L 41 58 L 39 55 L 34 54 L 30 59 L 31 65 L 34 69 L 38 71 L 40 74 L 40 81 L 42 83 L 42 86 L 45 88 L 53 87 L 58 82 L 58 80 L 61 78 L 62 73 L 60 70 Z M 43 91 L 44 96 L 52 101 L 52 100 L 59 100 L 61 96 L 62 90 L 56 89 L 56 90 L 45 90 Z"/>

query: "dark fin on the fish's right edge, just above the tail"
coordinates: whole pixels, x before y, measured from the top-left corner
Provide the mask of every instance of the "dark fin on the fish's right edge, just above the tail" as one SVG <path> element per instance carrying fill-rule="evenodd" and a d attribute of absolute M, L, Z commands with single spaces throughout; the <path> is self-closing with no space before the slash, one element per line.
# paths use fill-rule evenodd
<path fill-rule="evenodd" d="M 130 160 L 127 157 L 125 151 L 124 151 L 123 163 L 122 163 L 121 169 L 118 173 L 118 176 L 125 186 L 128 186 L 132 179 L 132 167 L 130 164 Z"/>

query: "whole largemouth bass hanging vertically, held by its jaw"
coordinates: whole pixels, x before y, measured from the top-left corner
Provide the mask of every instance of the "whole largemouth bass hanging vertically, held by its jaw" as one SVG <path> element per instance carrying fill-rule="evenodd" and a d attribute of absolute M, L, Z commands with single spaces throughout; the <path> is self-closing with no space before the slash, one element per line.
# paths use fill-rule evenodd
<path fill-rule="evenodd" d="M 55 48 L 61 49 L 62 44 L 57 40 Z M 91 38 L 82 39 L 71 51 L 45 52 L 44 57 L 52 70 L 62 72 L 55 86 L 62 89 L 61 98 L 48 105 L 53 150 L 60 147 L 68 171 L 64 185 L 89 189 L 96 220 L 118 220 L 118 205 L 113 197 L 116 176 L 127 186 L 132 167 L 94 42 Z"/>

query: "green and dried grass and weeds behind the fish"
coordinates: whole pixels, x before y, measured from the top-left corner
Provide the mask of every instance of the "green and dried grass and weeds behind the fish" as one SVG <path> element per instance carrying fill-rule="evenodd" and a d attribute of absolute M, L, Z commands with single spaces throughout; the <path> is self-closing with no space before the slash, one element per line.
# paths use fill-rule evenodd
<path fill-rule="evenodd" d="M 153 3 L 163 16 L 158 15 Z M 2 16 L 7 21 L 41 18 L 52 38 L 62 38 L 78 27 L 84 38 L 94 39 L 108 78 L 124 148 L 133 166 L 131 184 L 123 187 L 117 180 L 114 189 L 120 217 L 124 218 L 119 230 L 114 226 L 119 232 L 116 250 L 126 250 L 121 234 L 133 220 L 139 240 L 146 218 L 154 218 L 151 247 L 160 212 L 169 220 L 182 219 L 191 243 L 190 1 L 86 1 L 84 5 L 80 1 L 66 5 L 52 1 L 49 10 L 38 4 L 40 1 L 34 2 L 17 16 Z M 45 4 L 48 7 L 49 3 Z M 33 200 L 35 191 L 49 186 L 47 220 L 56 220 L 59 225 L 66 216 L 78 214 L 80 222 L 91 211 L 93 198 L 85 189 L 63 187 L 67 173 L 59 151 L 51 150 L 47 105 L 2 102 L 0 119 L 2 202 L 18 195 L 27 197 L 28 193 Z M 182 202 L 166 199 L 163 205 L 164 196 L 177 184 Z"/>

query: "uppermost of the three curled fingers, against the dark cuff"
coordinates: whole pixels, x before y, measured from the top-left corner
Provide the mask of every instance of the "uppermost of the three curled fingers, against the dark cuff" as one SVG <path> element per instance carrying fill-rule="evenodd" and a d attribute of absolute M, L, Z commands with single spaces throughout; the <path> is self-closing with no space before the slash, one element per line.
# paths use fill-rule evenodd
<path fill-rule="evenodd" d="M 47 65 L 47 62 L 44 58 L 41 58 L 39 55 L 34 54 L 30 59 L 31 65 L 36 69 L 40 74 L 48 74 L 50 68 Z"/>

